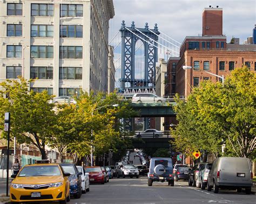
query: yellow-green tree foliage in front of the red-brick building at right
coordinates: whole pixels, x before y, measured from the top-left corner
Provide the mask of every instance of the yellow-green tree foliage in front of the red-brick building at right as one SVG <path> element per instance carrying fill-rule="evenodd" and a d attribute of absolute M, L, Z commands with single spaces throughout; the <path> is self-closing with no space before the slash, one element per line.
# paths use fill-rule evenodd
<path fill-rule="evenodd" d="M 177 99 L 179 124 L 173 130 L 176 149 L 196 149 L 216 156 L 252 157 L 255 150 L 255 73 L 237 68 L 221 83 L 206 81 L 194 88 L 187 101 Z M 254 151 L 255 152 L 255 151 Z"/>

